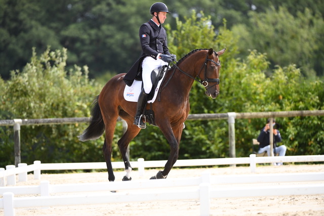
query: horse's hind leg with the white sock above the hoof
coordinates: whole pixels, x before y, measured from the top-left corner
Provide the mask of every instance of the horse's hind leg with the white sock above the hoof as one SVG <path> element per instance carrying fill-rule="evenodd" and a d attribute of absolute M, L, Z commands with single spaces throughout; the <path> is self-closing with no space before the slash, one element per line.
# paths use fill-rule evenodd
<path fill-rule="evenodd" d="M 123 137 L 121 137 L 120 140 L 118 140 L 117 144 L 125 164 L 126 176 L 124 176 L 123 181 L 130 181 L 132 180 L 130 176 L 132 166 L 130 163 L 129 155 L 127 154 L 127 147 L 131 140 L 138 135 L 141 129 L 133 124 L 133 120 L 127 120 L 126 122 L 128 124 L 127 131 L 125 132 Z"/>

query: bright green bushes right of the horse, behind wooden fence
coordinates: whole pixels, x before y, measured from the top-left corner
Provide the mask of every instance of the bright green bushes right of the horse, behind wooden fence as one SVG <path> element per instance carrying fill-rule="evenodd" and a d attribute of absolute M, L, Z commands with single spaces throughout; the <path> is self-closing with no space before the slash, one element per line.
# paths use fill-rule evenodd
<path fill-rule="evenodd" d="M 218 98 L 210 101 L 202 96 L 204 91 L 193 88 L 190 95 L 191 110 L 199 110 L 197 113 L 226 113 L 323 109 L 323 82 L 306 80 L 295 65 L 284 68 L 278 66 L 273 70 L 273 75 L 267 77 L 264 72 L 269 62 L 265 54 L 251 51 L 245 61 L 232 61 L 221 69 L 221 92 Z M 322 116 L 277 118 L 281 126 L 282 144 L 288 147 L 287 155 L 323 154 L 323 120 Z M 265 121 L 235 120 L 236 156 L 246 157 L 252 152 L 252 139 L 259 135 Z M 188 132 L 190 136 L 184 132 L 181 147 L 190 145 L 193 137 L 201 137 L 201 133 L 204 133 L 205 140 L 199 142 L 204 143 L 204 148 L 197 146 L 196 155 L 207 152 L 203 150 L 206 148 L 212 152 L 212 157 L 228 155 L 227 122 L 187 121 L 186 124 L 193 127 Z"/>

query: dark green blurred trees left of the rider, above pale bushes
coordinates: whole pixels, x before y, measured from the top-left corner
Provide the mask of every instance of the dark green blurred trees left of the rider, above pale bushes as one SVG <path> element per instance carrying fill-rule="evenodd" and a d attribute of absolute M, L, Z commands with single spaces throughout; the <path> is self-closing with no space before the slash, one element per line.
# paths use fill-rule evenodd
<path fill-rule="evenodd" d="M 140 55 L 138 28 L 150 19 L 149 0 L 0 1 L 0 68 L 6 79 L 28 62 L 32 47 L 44 52 L 48 45 L 67 48 L 67 67 L 88 65 L 91 77 L 127 72 Z"/>

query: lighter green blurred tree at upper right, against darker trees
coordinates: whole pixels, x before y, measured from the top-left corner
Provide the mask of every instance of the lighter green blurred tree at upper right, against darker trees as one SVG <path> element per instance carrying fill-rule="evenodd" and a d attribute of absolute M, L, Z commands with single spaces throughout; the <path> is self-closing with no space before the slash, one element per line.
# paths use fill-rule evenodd
<path fill-rule="evenodd" d="M 322 39 L 318 37 L 323 35 L 322 17 L 307 8 L 293 16 L 282 7 L 271 7 L 265 13 L 250 12 L 249 16 L 249 24 L 232 29 L 240 37 L 240 56 L 246 56 L 248 49 L 256 49 L 267 53 L 271 69 L 296 64 L 307 76 L 313 77 L 315 70 L 322 75 L 324 67 L 318 63 L 318 57 L 323 55 Z"/>

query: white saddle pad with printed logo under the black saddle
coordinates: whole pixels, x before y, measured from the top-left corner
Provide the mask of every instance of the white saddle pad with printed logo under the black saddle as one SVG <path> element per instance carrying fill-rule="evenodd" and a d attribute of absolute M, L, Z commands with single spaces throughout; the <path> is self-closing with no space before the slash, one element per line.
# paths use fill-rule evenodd
<path fill-rule="evenodd" d="M 166 72 L 163 74 L 163 77 L 158 81 L 152 100 L 147 101 L 147 103 L 154 103 L 157 93 L 158 93 L 158 90 L 160 88 L 161 82 L 164 79 L 165 75 L 166 75 Z M 125 100 L 130 101 L 130 102 L 137 102 L 138 97 L 141 93 L 141 90 L 142 90 L 142 81 L 134 80 L 132 86 L 129 87 L 128 85 L 126 85 L 126 87 L 124 89 Z"/>

